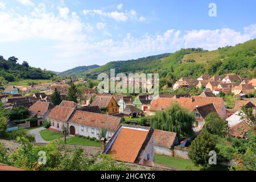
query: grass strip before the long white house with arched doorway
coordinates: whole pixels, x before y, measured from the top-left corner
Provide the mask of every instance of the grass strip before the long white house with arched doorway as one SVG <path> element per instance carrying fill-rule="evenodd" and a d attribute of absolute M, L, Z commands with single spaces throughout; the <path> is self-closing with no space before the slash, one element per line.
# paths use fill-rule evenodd
<path fill-rule="evenodd" d="M 64 143 L 64 140 L 61 140 L 60 143 Z M 96 146 L 96 147 L 101 146 L 100 142 L 96 142 L 96 141 L 89 140 L 89 139 L 82 138 L 82 137 L 68 138 L 67 139 L 67 144 L 78 144 L 78 145 L 81 145 L 81 146 Z"/>

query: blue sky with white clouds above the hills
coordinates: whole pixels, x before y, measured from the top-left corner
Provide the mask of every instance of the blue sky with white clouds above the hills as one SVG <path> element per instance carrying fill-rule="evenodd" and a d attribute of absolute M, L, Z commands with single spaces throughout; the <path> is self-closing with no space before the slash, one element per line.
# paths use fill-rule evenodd
<path fill-rule="evenodd" d="M 65 71 L 243 43 L 256 37 L 256 1 L 0 0 L 0 24 L 0 55 Z"/>

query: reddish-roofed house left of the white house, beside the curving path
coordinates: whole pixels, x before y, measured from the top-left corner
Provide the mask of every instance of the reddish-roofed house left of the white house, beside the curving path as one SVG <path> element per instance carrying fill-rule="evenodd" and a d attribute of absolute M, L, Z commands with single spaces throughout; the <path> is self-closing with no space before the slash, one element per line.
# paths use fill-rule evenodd
<path fill-rule="evenodd" d="M 48 118 L 53 107 L 54 106 L 50 102 L 37 101 L 35 104 L 30 106 L 28 110 L 30 111 L 31 117 L 38 118 L 38 126 L 40 126 L 43 124 L 44 119 Z"/>

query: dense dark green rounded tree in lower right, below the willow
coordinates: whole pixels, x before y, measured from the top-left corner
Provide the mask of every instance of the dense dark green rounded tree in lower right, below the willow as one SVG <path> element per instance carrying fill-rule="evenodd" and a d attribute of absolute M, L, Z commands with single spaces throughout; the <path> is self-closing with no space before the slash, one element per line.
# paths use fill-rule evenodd
<path fill-rule="evenodd" d="M 209 168 L 209 152 L 214 151 L 216 144 L 207 131 L 202 131 L 191 143 L 188 156 L 195 166 Z"/>

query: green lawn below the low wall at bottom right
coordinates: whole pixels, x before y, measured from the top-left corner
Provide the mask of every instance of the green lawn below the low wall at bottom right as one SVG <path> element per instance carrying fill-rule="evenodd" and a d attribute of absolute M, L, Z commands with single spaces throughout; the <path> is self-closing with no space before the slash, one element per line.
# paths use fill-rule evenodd
<path fill-rule="evenodd" d="M 155 154 L 155 163 L 163 164 L 181 170 L 198 171 L 200 167 L 194 166 L 191 160 Z"/>

